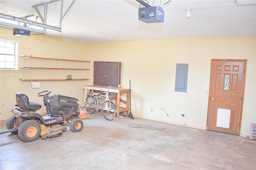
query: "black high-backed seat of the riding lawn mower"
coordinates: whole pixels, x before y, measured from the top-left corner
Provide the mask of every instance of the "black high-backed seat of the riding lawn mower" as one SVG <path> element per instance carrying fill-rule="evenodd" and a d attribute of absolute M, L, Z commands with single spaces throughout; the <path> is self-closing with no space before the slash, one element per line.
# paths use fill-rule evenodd
<path fill-rule="evenodd" d="M 36 110 L 41 109 L 41 107 L 42 107 L 42 105 L 40 105 L 38 103 L 29 102 L 28 96 L 26 96 L 25 94 L 22 94 L 20 92 L 16 93 L 16 102 L 17 102 L 17 106 L 19 106 L 25 110 L 36 111 Z"/>

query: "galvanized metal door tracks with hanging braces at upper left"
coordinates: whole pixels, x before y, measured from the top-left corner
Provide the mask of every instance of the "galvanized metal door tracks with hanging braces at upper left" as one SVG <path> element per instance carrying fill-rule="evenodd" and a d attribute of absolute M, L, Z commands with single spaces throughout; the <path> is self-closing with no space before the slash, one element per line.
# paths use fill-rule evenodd
<path fill-rule="evenodd" d="M 54 26 L 51 26 L 51 25 L 46 25 L 47 5 L 50 4 L 50 3 L 53 3 L 53 2 L 57 2 L 57 1 L 61 1 L 61 6 L 60 6 L 60 25 L 59 25 L 59 27 L 54 27 Z M 26 20 L 26 19 L 23 19 L 23 18 L 18 18 L 18 17 L 9 16 L 9 15 L 0 13 L 0 18 L 4 18 L 4 19 L 7 19 L 7 20 L 12 20 L 12 21 L 18 21 L 18 22 L 21 22 L 21 23 L 28 23 L 30 25 L 41 27 L 41 28 L 43 28 L 43 30 L 35 29 L 35 28 L 30 28 L 30 27 L 26 27 L 26 26 L 21 26 L 21 25 L 16 25 L 16 24 L 12 24 L 12 23 L 7 23 L 7 22 L 3 22 L 3 21 L 0 21 L 0 25 L 6 26 L 6 27 L 13 27 L 13 28 L 24 29 L 24 30 L 27 30 L 27 31 L 33 31 L 33 32 L 42 33 L 42 34 L 46 34 L 46 29 L 51 29 L 51 30 L 54 30 L 54 31 L 61 32 L 62 20 L 66 16 L 68 10 L 70 10 L 71 6 L 74 4 L 74 2 L 76 0 L 72 1 L 72 3 L 70 4 L 70 6 L 68 7 L 68 9 L 66 10 L 66 12 L 64 14 L 63 14 L 63 1 L 64 0 L 51 0 L 51 1 L 47 1 L 47 2 L 44 2 L 44 3 L 32 6 L 32 8 L 34 8 L 36 10 L 36 13 L 38 14 L 40 20 L 43 23 L 39 23 L 39 22 L 35 22 L 35 21 L 30 21 L 30 20 Z M 42 5 L 44 5 L 44 17 L 42 17 L 42 14 L 40 13 L 40 11 L 37 8 L 38 6 L 42 6 Z"/>

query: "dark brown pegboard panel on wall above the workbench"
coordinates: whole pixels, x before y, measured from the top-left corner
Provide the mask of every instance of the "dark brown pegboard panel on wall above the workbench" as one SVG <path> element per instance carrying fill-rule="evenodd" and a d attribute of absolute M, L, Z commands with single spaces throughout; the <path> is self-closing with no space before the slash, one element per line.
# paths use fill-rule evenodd
<path fill-rule="evenodd" d="M 121 78 L 121 62 L 94 61 L 93 84 L 118 87 Z"/>

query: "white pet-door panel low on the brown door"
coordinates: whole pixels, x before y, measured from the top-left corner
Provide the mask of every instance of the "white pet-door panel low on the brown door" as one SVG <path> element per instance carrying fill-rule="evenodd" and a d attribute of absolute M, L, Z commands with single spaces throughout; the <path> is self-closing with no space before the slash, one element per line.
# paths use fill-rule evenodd
<path fill-rule="evenodd" d="M 229 129 L 230 113 L 230 109 L 218 108 L 216 127 Z"/>

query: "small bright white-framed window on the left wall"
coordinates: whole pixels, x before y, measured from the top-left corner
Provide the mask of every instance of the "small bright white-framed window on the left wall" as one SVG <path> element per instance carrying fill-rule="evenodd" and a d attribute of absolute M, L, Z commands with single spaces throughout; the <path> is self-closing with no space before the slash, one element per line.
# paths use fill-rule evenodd
<path fill-rule="evenodd" d="M 0 39 L 0 69 L 17 69 L 18 42 Z"/>

